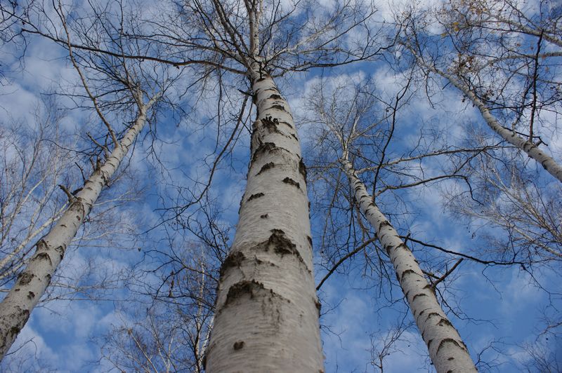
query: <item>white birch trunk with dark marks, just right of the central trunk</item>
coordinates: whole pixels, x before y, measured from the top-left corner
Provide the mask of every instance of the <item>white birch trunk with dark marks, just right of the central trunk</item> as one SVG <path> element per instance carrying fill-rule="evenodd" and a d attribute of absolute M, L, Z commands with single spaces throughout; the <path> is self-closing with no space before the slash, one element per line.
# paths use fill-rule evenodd
<path fill-rule="evenodd" d="M 388 222 L 377 205 L 372 203 L 371 196 L 355 175 L 351 163 L 342 160 L 342 164 L 351 180 L 355 198 L 363 214 L 377 231 L 379 242 L 391 259 L 400 287 L 410 305 L 410 311 L 437 372 L 476 372 L 466 345 L 443 312 L 433 288 L 421 272 L 410 248 L 398 236 L 396 229 Z"/>

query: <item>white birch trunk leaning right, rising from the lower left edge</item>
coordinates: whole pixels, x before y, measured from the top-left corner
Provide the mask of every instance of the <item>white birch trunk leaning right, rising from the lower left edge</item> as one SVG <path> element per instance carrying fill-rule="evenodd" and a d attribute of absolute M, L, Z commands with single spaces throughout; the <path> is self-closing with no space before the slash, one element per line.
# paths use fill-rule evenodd
<path fill-rule="evenodd" d="M 146 123 L 146 112 L 157 100 L 152 100 L 141 107 L 134 125 L 126 132 L 123 139 L 116 144 L 103 165 L 94 170 L 83 188 L 58 219 L 55 226 L 36 244 L 37 251 L 30 259 L 27 267 L 15 281 L 12 289 L 0 304 L 0 359 L 8 352 L 18 337 L 20 330 L 30 318 L 30 313 L 37 306 L 58 265 L 63 260 L 65 250 L 76 236 L 84 219 L 96 203 L 100 192 L 119 163 L 126 156 L 138 133 Z"/>

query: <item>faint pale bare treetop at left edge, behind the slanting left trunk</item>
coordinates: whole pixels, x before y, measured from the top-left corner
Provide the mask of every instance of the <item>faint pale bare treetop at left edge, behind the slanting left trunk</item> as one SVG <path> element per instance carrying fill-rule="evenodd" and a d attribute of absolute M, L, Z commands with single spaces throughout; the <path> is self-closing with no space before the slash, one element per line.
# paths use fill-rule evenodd
<path fill-rule="evenodd" d="M 39 103 L 35 123 L 4 123 L 0 131 L 0 281 L 7 283 L 25 265 L 29 244 L 60 217 L 66 198 L 56 198 L 58 183 L 75 157 L 63 147 L 63 115 L 53 100 Z M 59 144 L 55 146 L 53 144 Z M 26 224 L 21 224 L 25 220 Z"/>

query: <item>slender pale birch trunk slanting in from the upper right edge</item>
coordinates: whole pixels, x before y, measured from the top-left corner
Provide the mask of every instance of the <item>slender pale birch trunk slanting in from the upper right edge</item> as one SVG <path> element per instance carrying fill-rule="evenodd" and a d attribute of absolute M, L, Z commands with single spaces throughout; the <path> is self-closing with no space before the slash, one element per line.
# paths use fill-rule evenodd
<path fill-rule="evenodd" d="M 484 121 L 488 124 L 488 127 L 492 128 L 492 130 L 502 137 L 502 139 L 509 142 L 509 144 L 514 147 L 525 151 L 530 158 L 540 163 L 542 167 L 544 167 L 544 170 L 547 170 L 552 176 L 556 177 L 558 181 L 562 182 L 562 165 L 554 161 L 554 159 L 545 154 L 544 151 L 540 150 L 539 147 L 537 147 L 537 145 L 535 145 L 531 140 L 525 140 L 523 137 L 515 133 L 515 131 L 508 130 L 499 124 L 484 102 L 482 102 L 482 100 L 480 100 L 465 84 L 458 81 L 453 76 L 450 76 L 450 74 L 445 74 L 431 65 L 426 65 L 426 63 L 422 62 L 417 55 L 416 57 L 420 65 L 430 69 L 432 72 L 435 72 L 440 76 L 443 76 L 443 78 L 450 81 L 453 86 L 457 87 L 462 93 L 464 93 L 466 97 L 469 97 L 469 100 L 478 107 L 478 110 L 481 112 Z"/>

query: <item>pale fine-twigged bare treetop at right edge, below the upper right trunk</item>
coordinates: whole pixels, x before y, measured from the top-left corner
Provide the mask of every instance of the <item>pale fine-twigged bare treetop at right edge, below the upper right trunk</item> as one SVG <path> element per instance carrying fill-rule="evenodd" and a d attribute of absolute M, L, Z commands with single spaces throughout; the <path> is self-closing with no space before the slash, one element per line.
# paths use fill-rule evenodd
<path fill-rule="evenodd" d="M 488 252 L 481 257 L 521 262 L 530 271 L 537 265 L 556 266 L 562 259 L 561 187 L 537 182 L 521 156 L 507 150 L 473 159 L 467 165 L 472 196 L 451 188 L 445 195 L 447 207 L 483 231 Z M 497 229 L 505 236 L 492 233 Z"/>

